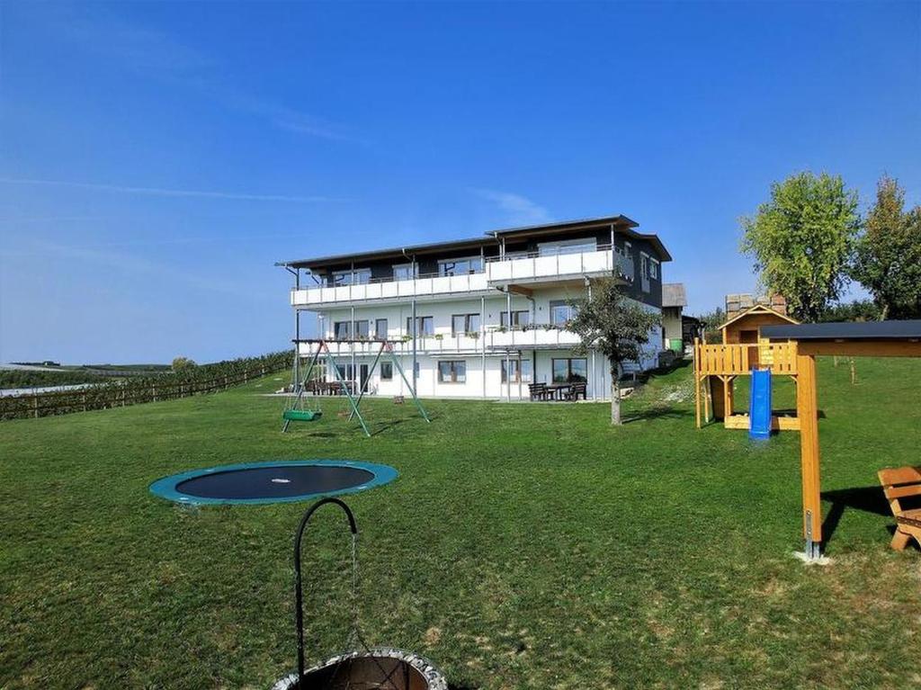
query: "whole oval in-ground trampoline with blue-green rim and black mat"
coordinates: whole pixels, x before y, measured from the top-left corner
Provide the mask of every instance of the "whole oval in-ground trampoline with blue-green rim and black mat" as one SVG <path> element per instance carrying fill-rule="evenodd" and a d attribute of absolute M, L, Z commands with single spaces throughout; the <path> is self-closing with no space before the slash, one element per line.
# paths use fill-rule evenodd
<path fill-rule="evenodd" d="M 388 465 L 354 460 L 244 462 L 157 479 L 150 491 L 191 505 L 285 503 L 354 494 L 392 482 Z"/>

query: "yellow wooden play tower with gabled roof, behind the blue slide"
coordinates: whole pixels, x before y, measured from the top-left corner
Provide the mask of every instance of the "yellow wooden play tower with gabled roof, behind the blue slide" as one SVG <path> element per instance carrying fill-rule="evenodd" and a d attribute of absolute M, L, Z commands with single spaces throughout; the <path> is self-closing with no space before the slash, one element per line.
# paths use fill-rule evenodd
<path fill-rule="evenodd" d="M 735 384 L 752 369 L 770 369 L 775 376 L 797 381 L 797 344 L 773 343 L 761 333 L 762 326 L 796 324 L 786 314 L 767 305 L 755 304 L 719 327 L 722 343 L 707 344 L 694 339 L 694 401 L 697 428 L 711 419 L 721 419 L 728 429 L 748 429 L 747 413 L 735 410 Z M 771 415 L 775 431 L 799 429 L 796 415 Z"/>

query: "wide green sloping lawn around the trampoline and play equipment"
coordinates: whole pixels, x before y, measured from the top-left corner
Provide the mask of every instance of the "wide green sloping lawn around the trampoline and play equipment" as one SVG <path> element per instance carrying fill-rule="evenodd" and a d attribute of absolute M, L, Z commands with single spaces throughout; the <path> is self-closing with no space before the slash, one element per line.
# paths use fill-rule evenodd
<path fill-rule="evenodd" d="M 457 688 L 921 687 L 921 555 L 889 550 L 880 467 L 917 463 L 921 362 L 820 362 L 825 567 L 804 566 L 799 437 L 694 430 L 687 368 L 602 404 L 368 404 L 365 439 L 279 433 L 237 390 L 0 424 L 0 687 L 265 688 L 295 661 L 306 504 L 182 509 L 157 477 L 272 459 L 385 462 L 348 497 L 365 636 Z M 777 393 L 792 403 L 789 387 Z M 785 401 L 784 398 L 787 400 Z M 341 516 L 309 532 L 308 653 L 344 644 Z"/>

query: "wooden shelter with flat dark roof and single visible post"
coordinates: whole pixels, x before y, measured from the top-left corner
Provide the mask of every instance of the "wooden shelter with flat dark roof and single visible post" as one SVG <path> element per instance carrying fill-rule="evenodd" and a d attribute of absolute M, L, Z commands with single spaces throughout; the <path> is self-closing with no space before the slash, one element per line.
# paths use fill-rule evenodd
<path fill-rule="evenodd" d="M 794 342 L 797 345 L 803 536 L 806 540 L 806 557 L 814 559 L 822 554 L 822 489 L 815 358 L 819 355 L 921 357 L 921 320 L 763 326 L 761 334 L 771 341 Z"/>

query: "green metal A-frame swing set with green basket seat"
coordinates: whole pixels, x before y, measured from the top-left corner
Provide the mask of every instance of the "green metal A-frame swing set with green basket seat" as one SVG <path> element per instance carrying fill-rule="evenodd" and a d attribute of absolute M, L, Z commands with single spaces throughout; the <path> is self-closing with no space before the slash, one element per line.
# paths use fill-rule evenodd
<path fill-rule="evenodd" d="M 406 384 L 406 388 L 409 389 L 410 394 L 413 396 L 413 402 L 415 403 L 416 408 L 419 410 L 419 414 L 422 415 L 422 418 L 426 422 L 431 422 L 428 415 L 426 414 L 426 408 L 422 406 L 419 398 L 416 397 L 415 389 L 413 385 L 406 378 L 406 373 L 403 371 L 402 364 L 400 364 L 399 357 L 396 356 L 393 352 L 393 341 L 390 340 L 325 340 L 322 338 L 296 338 L 292 341 L 295 344 L 295 354 L 294 354 L 294 369 L 292 378 L 294 380 L 294 385 L 291 389 L 291 394 L 288 396 L 287 403 L 285 406 L 285 411 L 282 413 L 282 419 L 285 420 L 285 424 L 282 427 L 282 432 L 286 432 L 291 422 L 316 422 L 319 421 L 323 415 L 321 407 L 321 394 L 317 390 L 318 383 L 320 380 L 310 380 L 310 375 L 314 370 L 319 371 L 320 368 L 317 366 L 320 363 L 321 357 L 324 357 L 324 363 L 327 365 L 327 368 L 332 371 L 332 375 L 335 377 L 335 382 L 339 384 L 339 390 L 342 392 L 344 398 L 348 401 L 349 406 L 349 421 L 352 419 L 358 418 L 358 422 L 361 424 L 361 428 L 365 431 L 367 437 L 371 436 L 371 432 L 367 428 L 367 423 L 365 422 L 365 417 L 362 416 L 359 407 L 362 400 L 365 398 L 365 393 L 367 392 L 367 383 L 371 380 L 371 377 L 374 375 L 375 369 L 378 368 L 380 358 L 383 356 L 390 357 L 390 361 L 393 364 L 393 367 L 400 372 L 400 376 L 403 382 Z M 334 344 L 355 344 L 361 343 L 362 345 L 367 345 L 368 342 L 379 343 L 380 348 L 378 354 L 374 357 L 374 363 L 371 365 L 370 370 L 367 372 L 367 377 L 364 377 L 364 380 L 361 384 L 361 390 L 356 396 L 355 393 L 350 390 L 350 386 L 345 381 L 342 372 L 336 367 L 335 358 L 332 356 L 330 347 L 328 343 Z M 298 380 L 297 370 L 300 363 L 300 345 L 301 344 L 316 345 L 316 351 L 310 356 L 310 363 L 308 365 L 307 371 L 304 376 Z"/>

